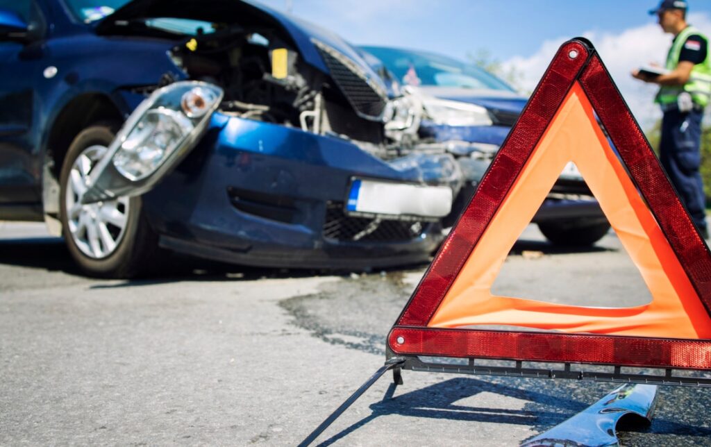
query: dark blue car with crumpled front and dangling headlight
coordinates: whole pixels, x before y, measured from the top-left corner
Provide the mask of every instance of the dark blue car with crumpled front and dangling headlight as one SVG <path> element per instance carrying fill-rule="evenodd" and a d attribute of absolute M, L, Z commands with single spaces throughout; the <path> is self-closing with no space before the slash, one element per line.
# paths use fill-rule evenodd
<path fill-rule="evenodd" d="M 0 80 L 0 220 L 92 275 L 423 262 L 461 186 L 358 50 L 247 1 L 0 0 Z"/>

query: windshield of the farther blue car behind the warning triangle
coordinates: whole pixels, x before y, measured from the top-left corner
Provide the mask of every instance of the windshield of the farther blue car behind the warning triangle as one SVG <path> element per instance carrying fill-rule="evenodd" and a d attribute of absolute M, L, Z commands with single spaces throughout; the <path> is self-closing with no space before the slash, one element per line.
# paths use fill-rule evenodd
<path fill-rule="evenodd" d="M 436 85 L 515 92 L 503 80 L 474 65 L 447 56 L 397 48 L 362 47 L 380 59 L 406 85 Z"/>

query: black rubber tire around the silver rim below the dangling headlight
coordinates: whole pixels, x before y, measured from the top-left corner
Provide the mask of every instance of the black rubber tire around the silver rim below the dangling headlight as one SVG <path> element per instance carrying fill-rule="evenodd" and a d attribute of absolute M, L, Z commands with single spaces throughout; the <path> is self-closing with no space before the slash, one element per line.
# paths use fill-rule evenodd
<path fill-rule="evenodd" d="M 82 218 L 85 220 L 80 220 L 80 218 L 77 217 L 77 220 L 75 220 L 73 215 L 73 227 L 76 232 L 73 234 L 72 230 L 70 230 L 70 218 L 68 217 L 67 210 L 70 201 L 68 198 L 68 188 L 70 188 L 73 203 L 77 203 L 76 198 L 78 196 L 75 193 L 75 184 L 68 185 L 68 183 L 70 182 L 70 175 L 72 174 L 73 168 L 75 168 L 75 171 L 80 170 L 80 168 L 75 167 L 75 161 L 77 161 L 77 158 L 82 156 L 82 154 L 100 154 L 99 146 L 109 146 L 118 128 L 118 124 L 109 123 L 97 124 L 81 131 L 80 134 L 75 137 L 74 141 L 72 141 L 72 144 L 70 144 L 60 173 L 60 219 L 62 221 L 62 232 L 65 243 L 75 262 L 77 262 L 82 271 L 90 276 L 131 278 L 146 274 L 149 271 L 148 267 L 155 265 L 155 257 L 158 254 L 158 239 L 146 222 L 141 209 L 142 203 L 140 197 L 119 198 L 122 203 L 118 203 L 118 201 L 107 202 L 107 204 L 115 203 L 116 209 L 119 212 L 122 209 L 124 210 L 124 214 L 119 214 L 121 216 L 120 225 L 114 227 L 112 224 L 108 226 L 104 224 L 101 228 L 103 235 L 107 232 L 107 227 L 110 227 L 109 237 L 107 239 L 109 244 L 104 242 L 103 238 L 97 237 L 97 233 L 95 232 L 98 228 L 96 224 L 97 221 L 92 221 L 94 231 L 92 242 L 95 242 L 98 247 L 105 248 L 105 250 L 97 250 L 100 255 L 95 255 L 95 253 L 92 252 L 94 245 L 82 242 L 80 237 L 81 232 L 76 229 L 77 227 L 86 228 L 87 226 L 82 224 L 77 225 L 76 222 L 87 222 L 86 219 L 95 218 L 96 214 L 101 213 L 97 212 L 92 214 L 92 211 L 88 211 L 87 208 L 83 207 L 80 207 L 80 212 L 76 212 L 74 210 L 76 210 L 77 207 L 73 206 L 74 215 L 92 214 L 92 217 L 83 216 Z M 87 158 L 88 156 L 82 158 L 82 160 Z M 76 174 L 75 172 L 74 175 Z M 102 207 L 107 205 L 99 203 L 96 206 Z M 99 208 L 99 210 L 104 209 L 105 208 Z M 84 230 L 84 234 L 87 235 L 87 239 L 89 239 L 87 230 Z M 113 241 L 115 242 L 114 244 L 110 244 L 114 234 L 117 235 L 117 239 Z"/>

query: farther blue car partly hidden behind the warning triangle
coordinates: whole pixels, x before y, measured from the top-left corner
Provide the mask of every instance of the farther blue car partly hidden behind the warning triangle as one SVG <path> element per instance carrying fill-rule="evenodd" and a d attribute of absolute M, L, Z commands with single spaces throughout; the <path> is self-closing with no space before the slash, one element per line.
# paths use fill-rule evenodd
<path fill-rule="evenodd" d="M 498 77 L 443 55 L 373 46 L 361 50 L 375 58 L 371 65 L 383 65 L 422 102 L 419 146 L 425 148 L 429 141 L 429 146 L 444 146 L 456 156 L 466 183 L 445 219 L 445 225 L 452 225 L 469 203 L 527 99 Z M 594 244 L 610 228 L 572 163 L 561 173 L 533 222 L 547 239 L 563 245 Z"/>

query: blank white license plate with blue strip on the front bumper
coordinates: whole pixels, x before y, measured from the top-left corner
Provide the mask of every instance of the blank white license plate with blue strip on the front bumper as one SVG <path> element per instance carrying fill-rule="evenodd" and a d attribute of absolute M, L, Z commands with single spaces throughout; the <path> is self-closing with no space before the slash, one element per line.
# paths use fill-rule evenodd
<path fill-rule="evenodd" d="M 357 178 L 351 183 L 346 210 L 382 215 L 444 217 L 451 211 L 448 186 L 408 185 Z"/>

